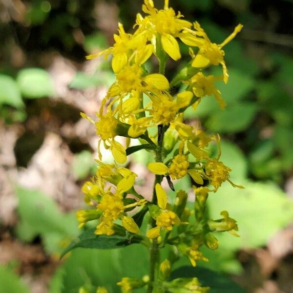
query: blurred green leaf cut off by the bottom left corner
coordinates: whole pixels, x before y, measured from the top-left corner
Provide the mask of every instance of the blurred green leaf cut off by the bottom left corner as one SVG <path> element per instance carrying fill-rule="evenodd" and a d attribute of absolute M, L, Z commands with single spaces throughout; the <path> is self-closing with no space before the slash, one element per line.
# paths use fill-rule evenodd
<path fill-rule="evenodd" d="M 28 286 L 20 277 L 9 269 L 0 266 L 0 292 L 5 293 L 29 293 Z"/>

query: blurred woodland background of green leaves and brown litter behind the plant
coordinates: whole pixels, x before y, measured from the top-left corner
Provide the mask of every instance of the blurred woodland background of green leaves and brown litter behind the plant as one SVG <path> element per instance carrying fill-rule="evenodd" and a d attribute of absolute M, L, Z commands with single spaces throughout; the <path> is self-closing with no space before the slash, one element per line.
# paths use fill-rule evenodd
<path fill-rule="evenodd" d="M 79 249 L 59 259 L 79 234 L 80 188 L 96 170 L 97 137 L 79 113 L 94 116 L 114 81 L 109 63 L 85 56 L 112 44 L 118 21 L 131 32 L 141 4 L 0 0 L 1 293 L 75 293 L 83 285 L 119 292 L 113 284 L 122 276 L 147 273 L 140 247 L 135 253 Z M 200 119 L 207 131 L 220 133 L 222 160 L 246 188 L 224 184 L 210 196 L 210 216 L 227 209 L 241 238 L 219 235 L 219 249 L 203 250 L 210 262 L 198 266 L 225 273 L 247 292 L 293 293 L 293 1 L 170 0 L 170 6 L 199 21 L 212 42 L 244 25 L 225 46 L 230 81 L 219 89 L 226 110 L 206 97 L 196 112 L 185 113 L 188 123 Z M 189 56 L 182 52 L 183 66 Z M 169 80 L 175 65 L 168 64 Z M 153 182 L 144 167 L 150 160 L 141 151 L 128 162 L 145 178 L 143 194 Z"/>

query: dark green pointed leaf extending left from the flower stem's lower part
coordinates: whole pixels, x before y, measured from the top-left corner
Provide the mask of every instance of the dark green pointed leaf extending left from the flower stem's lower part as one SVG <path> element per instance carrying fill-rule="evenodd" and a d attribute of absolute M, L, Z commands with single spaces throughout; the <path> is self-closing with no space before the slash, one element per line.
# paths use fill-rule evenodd
<path fill-rule="evenodd" d="M 120 235 L 96 235 L 96 228 L 88 229 L 73 240 L 69 246 L 62 252 L 61 257 L 67 252 L 81 247 L 81 248 L 94 248 L 94 249 L 114 249 L 121 248 L 133 243 L 140 243 L 142 238 L 138 235 L 134 235 L 131 239 L 126 236 Z"/>

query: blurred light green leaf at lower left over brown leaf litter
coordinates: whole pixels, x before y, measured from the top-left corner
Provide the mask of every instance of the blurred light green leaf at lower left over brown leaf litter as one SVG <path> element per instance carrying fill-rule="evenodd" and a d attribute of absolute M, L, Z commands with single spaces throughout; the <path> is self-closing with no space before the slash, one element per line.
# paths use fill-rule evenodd
<path fill-rule="evenodd" d="M 18 236 L 25 242 L 40 235 L 47 252 L 60 252 L 78 234 L 74 214 L 62 213 L 57 204 L 42 192 L 17 188 L 20 224 Z"/>

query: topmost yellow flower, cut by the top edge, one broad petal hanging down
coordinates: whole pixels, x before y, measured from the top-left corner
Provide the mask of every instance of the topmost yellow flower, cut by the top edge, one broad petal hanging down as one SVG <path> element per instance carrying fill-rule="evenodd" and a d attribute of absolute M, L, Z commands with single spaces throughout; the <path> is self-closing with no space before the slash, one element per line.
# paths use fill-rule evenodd
<path fill-rule="evenodd" d="M 173 59 L 181 58 L 178 42 L 176 37 L 186 28 L 191 27 L 189 21 L 181 20 L 183 17 L 180 12 L 178 15 L 172 8 L 168 7 L 168 0 L 165 0 L 164 10 L 154 8 L 152 0 L 145 0 L 143 11 L 148 14 L 145 18 L 138 14 L 136 17 L 136 25 L 138 32 L 146 34 L 147 39 L 155 42 L 154 39 L 159 35 L 161 37 L 162 47 L 164 51 Z"/>

